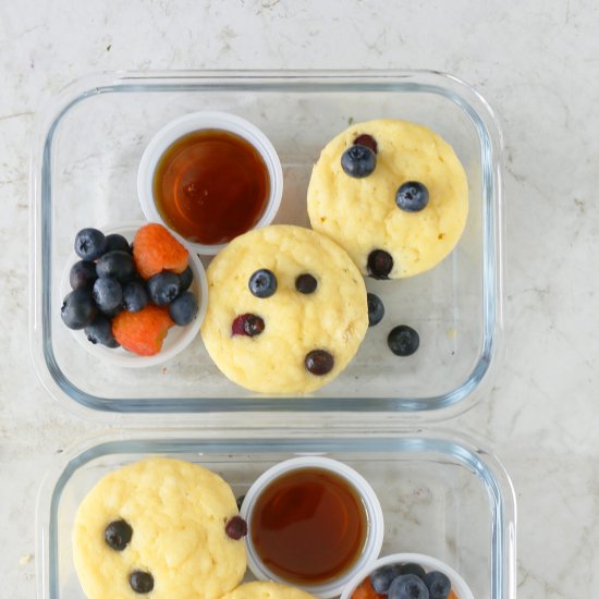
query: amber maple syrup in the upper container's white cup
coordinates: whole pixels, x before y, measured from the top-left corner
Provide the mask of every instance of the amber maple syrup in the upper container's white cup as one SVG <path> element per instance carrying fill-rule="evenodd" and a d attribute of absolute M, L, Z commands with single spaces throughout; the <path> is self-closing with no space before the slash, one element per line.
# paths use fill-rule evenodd
<path fill-rule="evenodd" d="M 249 231 L 270 194 L 268 168 L 246 139 L 222 130 L 184 135 L 158 161 L 152 192 L 164 222 L 193 243 L 227 243 Z"/>

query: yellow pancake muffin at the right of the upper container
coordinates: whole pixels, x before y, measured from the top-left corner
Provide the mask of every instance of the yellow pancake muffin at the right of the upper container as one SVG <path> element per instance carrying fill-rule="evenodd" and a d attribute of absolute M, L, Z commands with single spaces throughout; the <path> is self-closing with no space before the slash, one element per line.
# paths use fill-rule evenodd
<path fill-rule="evenodd" d="M 429 129 L 393 119 L 355 123 L 322 149 L 308 215 L 364 274 L 412 277 L 455 247 L 468 182 L 452 147 Z"/>

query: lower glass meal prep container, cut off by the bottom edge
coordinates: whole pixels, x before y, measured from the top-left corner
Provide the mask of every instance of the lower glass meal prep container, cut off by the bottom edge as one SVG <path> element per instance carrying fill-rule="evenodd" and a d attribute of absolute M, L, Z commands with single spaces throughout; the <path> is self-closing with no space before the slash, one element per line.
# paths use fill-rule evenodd
<path fill-rule="evenodd" d="M 149 455 L 180 457 L 218 473 L 240 497 L 269 467 L 301 454 L 339 460 L 370 484 L 384 517 L 381 555 L 431 555 L 459 572 L 477 599 L 515 598 L 514 492 L 501 464 L 476 441 L 448 430 L 339 429 L 322 438 L 277 428 L 227 438 L 188 429 L 102 432 L 61 454 L 38 497 L 38 598 L 83 599 L 74 516 L 109 472 Z"/>

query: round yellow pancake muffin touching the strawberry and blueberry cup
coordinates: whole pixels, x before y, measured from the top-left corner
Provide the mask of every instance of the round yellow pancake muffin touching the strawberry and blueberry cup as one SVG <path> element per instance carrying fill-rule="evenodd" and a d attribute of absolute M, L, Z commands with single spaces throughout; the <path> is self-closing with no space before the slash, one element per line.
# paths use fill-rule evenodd
<path fill-rule="evenodd" d="M 207 270 L 206 349 L 232 381 L 306 393 L 331 381 L 368 328 L 366 288 L 325 235 L 271 225 L 234 239 Z"/>

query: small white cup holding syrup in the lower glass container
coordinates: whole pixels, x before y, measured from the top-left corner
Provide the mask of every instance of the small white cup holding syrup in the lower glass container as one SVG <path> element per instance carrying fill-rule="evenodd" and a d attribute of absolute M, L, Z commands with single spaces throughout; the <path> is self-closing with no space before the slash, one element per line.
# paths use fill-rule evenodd
<path fill-rule="evenodd" d="M 320 583 L 315 585 L 301 585 L 295 582 L 290 582 L 276 573 L 271 572 L 268 566 L 261 561 L 258 555 L 254 543 L 252 542 L 252 511 L 255 506 L 256 500 L 259 498 L 262 490 L 268 487 L 273 480 L 281 475 L 285 475 L 292 470 L 304 468 L 318 468 L 322 470 L 329 470 L 346 480 L 356 491 L 358 497 L 362 498 L 364 508 L 366 510 L 367 529 L 366 539 L 362 554 L 357 558 L 355 563 L 341 574 L 338 578 L 329 580 L 327 583 Z M 384 533 L 384 522 L 382 517 L 382 510 L 379 500 L 366 481 L 366 479 L 359 475 L 356 470 L 338 462 L 330 457 L 323 457 L 319 455 L 309 455 L 302 457 L 293 457 L 281 462 L 267 472 L 265 472 L 252 485 L 247 491 L 243 504 L 241 508 L 241 516 L 247 523 L 247 562 L 249 570 L 260 580 L 274 580 L 283 584 L 291 584 L 298 587 L 306 592 L 310 592 L 322 599 L 330 597 L 338 597 L 343 588 L 347 585 L 349 580 L 353 579 L 356 572 L 362 572 L 368 567 L 378 557 L 382 547 L 382 538 Z"/>

